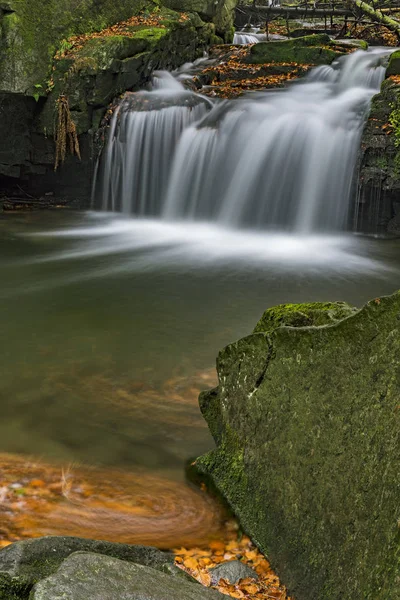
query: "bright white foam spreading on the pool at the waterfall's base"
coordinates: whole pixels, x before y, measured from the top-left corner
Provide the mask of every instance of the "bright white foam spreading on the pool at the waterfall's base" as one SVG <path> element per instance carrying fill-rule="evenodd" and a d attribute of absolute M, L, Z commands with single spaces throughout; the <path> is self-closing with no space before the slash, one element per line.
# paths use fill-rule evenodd
<path fill-rule="evenodd" d="M 67 242 L 60 252 L 36 257 L 34 263 L 114 257 L 112 266 L 79 277 L 125 271 L 248 265 L 259 269 L 325 274 L 377 272 L 386 268 L 365 252 L 365 241 L 351 235 L 293 235 L 235 230 L 206 222 L 172 223 L 88 213 L 79 227 L 31 234 Z M 64 280 L 64 278 L 62 278 Z M 74 279 L 76 280 L 76 279 Z M 65 280 L 64 280 L 65 281 Z"/>

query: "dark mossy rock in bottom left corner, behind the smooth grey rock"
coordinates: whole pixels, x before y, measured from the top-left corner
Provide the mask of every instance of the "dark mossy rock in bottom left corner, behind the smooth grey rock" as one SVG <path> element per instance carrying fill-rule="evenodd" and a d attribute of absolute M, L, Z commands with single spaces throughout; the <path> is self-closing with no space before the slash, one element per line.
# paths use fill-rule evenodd
<path fill-rule="evenodd" d="M 169 567 L 174 565 L 172 554 L 150 546 L 77 537 L 49 536 L 25 540 L 0 551 L 0 600 L 9 600 L 12 593 L 24 598 L 34 583 L 54 573 L 63 560 L 78 551 L 107 555 L 161 571 L 169 571 Z"/>

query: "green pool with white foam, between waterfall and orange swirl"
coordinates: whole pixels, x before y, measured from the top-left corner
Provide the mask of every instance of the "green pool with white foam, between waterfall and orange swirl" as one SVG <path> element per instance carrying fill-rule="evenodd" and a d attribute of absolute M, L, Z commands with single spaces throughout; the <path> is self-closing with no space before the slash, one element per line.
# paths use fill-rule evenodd
<path fill-rule="evenodd" d="M 161 470 L 213 447 L 218 350 L 268 306 L 400 288 L 397 240 L 110 214 L 0 220 L 0 451 Z"/>

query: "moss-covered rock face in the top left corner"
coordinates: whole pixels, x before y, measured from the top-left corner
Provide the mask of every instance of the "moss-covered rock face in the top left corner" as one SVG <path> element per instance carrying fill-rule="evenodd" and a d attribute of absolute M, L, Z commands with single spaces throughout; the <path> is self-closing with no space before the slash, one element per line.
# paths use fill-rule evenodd
<path fill-rule="evenodd" d="M 45 89 L 53 56 L 71 35 L 100 31 L 151 0 L 9 0 L 0 6 L 0 91 Z"/>

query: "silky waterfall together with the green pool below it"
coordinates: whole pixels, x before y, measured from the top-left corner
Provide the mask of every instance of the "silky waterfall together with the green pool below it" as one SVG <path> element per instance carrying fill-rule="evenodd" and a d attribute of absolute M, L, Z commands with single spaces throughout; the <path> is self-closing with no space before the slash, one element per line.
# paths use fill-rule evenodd
<path fill-rule="evenodd" d="M 264 309 L 400 288 L 400 242 L 345 232 L 382 56 L 217 105 L 162 75 L 114 118 L 95 210 L 1 216 L 0 451 L 182 479 Z"/>

